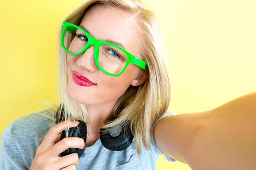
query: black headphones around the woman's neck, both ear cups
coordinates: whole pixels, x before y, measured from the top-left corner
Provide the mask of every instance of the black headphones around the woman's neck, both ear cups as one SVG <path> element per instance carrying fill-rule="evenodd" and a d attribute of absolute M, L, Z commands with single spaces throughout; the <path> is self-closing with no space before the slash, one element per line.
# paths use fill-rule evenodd
<path fill-rule="evenodd" d="M 60 106 L 57 109 L 57 113 L 56 113 L 56 124 L 60 123 L 60 121 L 62 120 L 62 116 L 63 116 L 63 110 L 64 107 L 62 108 L 61 111 L 59 111 Z M 60 119 L 58 119 L 58 114 L 61 114 Z M 115 119 L 116 117 L 113 117 L 111 119 L 109 119 L 110 121 L 112 121 L 113 119 Z M 79 121 L 79 125 L 77 125 L 76 127 L 71 127 L 68 130 L 68 137 L 80 137 L 82 139 L 84 139 L 84 143 L 86 143 L 86 136 L 87 136 L 87 125 L 84 121 L 82 120 L 78 120 Z M 130 127 L 131 122 L 129 122 L 128 127 Z M 113 151 L 121 151 L 121 150 L 125 150 L 127 147 L 129 147 L 134 139 L 133 134 L 131 133 L 131 129 L 130 128 L 111 128 L 109 133 L 104 133 L 102 131 L 104 131 L 105 129 L 100 129 L 100 140 L 102 142 L 102 145 L 107 148 L 108 150 L 113 150 Z M 64 139 L 66 137 L 66 130 L 63 130 L 61 132 L 61 138 L 60 141 L 62 139 Z M 85 147 L 84 147 L 85 148 Z M 60 153 L 61 156 L 66 156 L 69 155 L 71 153 L 77 153 L 79 158 L 82 156 L 83 154 L 83 149 L 79 149 L 79 148 L 68 148 L 67 150 L 65 150 L 64 152 Z"/>

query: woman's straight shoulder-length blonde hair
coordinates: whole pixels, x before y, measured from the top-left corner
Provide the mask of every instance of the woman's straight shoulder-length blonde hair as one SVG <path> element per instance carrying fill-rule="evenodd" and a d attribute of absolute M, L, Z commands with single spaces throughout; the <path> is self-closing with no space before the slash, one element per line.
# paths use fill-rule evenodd
<path fill-rule="evenodd" d="M 79 104 L 67 95 L 67 52 L 61 47 L 62 23 L 64 21 L 79 24 L 85 12 L 95 5 L 119 8 L 133 14 L 137 20 L 136 31 L 142 59 L 147 63 L 149 77 L 139 86 L 130 85 L 118 99 L 111 114 L 118 116 L 113 122 L 105 122 L 101 128 L 127 125 L 131 121 L 137 153 L 142 153 L 141 142 L 150 149 L 151 126 L 169 107 L 171 88 L 166 66 L 166 48 L 160 26 L 154 13 L 145 9 L 140 0 L 87 0 L 70 12 L 60 23 L 58 32 L 58 96 L 61 108 L 64 106 L 63 119 L 80 119 L 90 125 L 87 106 Z M 65 42 L 68 45 L 70 40 Z M 143 71 L 143 70 L 141 70 Z M 140 77 L 140 73 L 138 75 Z M 58 105 L 52 105 L 49 111 L 56 113 Z M 44 115 L 43 115 L 44 116 Z"/>

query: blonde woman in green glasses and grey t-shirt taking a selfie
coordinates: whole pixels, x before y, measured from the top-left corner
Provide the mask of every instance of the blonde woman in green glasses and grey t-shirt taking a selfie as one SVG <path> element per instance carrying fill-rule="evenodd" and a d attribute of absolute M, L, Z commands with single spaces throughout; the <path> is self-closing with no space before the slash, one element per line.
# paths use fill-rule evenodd
<path fill-rule="evenodd" d="M 165 47 L 154 14 L 139 0 L 82 4 L 61 22 L 58 52 L 59 110 L 64 117 L 56 118 L 62 122 L 55 122 L 58 106 L 12 122 L 2 136 L 1 168 L 144 170 L 155 169 L 160 155 L 198 170 L 246 166 L 249 170 L 255 166 L 251 161 L 255 155 L 248 152 L 248 148 L 255 150 L 255 138 L 248 135 L 250 147 L 239 148 L 245 140 L 235 142 L 231 137 L 237 136 L 227 134 L 231 130 L 235 134 L 239 128 L 244 132 L 246 128 L 241 127 L 251 129 L 244 134 L 255 132 L 252 108 L 256 95 L 201 113 L 176 115 L 167 110 L 171 91 Z M 245 106 L 250 109 L 245 111 Z M 250 119 L 238 122 L 239 109 Z M 228 122 L 231 115 L 233 122 Z M 116 119 L 109 122 L 113 117 Z M 78 126 L 71 120 L 86 123 L 86 142 L 76 137 L 61 140 L 63 130 Z M 246 126 L 242 126 L 244 122 Z M 131 127 L 133 142 L 120 151 L 105 148 L 101 129 L 124 125 Z M 68 148 L 84 149 L 83 154 L 80 158 L 77 153 L 59 157 Z M 236 161 L 243 153 L 247 154 L 246 164 Z"/>

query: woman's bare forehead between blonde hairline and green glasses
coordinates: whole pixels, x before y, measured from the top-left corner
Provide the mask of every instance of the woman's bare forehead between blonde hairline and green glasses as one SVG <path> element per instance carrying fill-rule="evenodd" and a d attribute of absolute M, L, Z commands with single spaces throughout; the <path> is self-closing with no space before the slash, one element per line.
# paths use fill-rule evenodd
<path fill-rule="evenodd" d="M 125 50 L 141 58 L 137 48 L 136 20 L 131 13 L 113 8 L 94 6 L 86 12 L 80 25 L 98 40 L 120 42 Z"/>

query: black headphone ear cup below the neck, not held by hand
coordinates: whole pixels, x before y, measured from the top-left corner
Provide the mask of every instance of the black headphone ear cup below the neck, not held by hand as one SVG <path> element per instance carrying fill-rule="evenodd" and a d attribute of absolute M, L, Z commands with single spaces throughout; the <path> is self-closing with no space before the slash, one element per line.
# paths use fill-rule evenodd
<path fill-rule="evenodd" d="M 111 131 L 106 133 L 104 132 L 105 129 L 100 129 L 100 140 L 102 142 L 102 145 L 108 150 L 113 150 L 113 151 L 125 150 L 127 147 L 131 145 L 134 139 L 134 136 L 131 133 L 130 125 L 131 123 L 129 123 L 126 128 L 121 127 L 122 130 L 117 136 L 116 135 L 113 136 L 114 133 L 112 133 L 111 135 Z"/>

